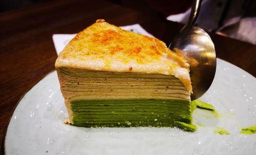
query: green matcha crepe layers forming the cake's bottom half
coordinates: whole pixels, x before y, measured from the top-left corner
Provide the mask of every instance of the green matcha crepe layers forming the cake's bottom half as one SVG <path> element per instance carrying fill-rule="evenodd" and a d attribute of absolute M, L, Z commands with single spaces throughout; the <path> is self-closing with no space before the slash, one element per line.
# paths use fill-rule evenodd
<path fill-rule="evenodd" d="M 174 99 L 80 99 L 71 101 L 78 126 L 173 126 L 191 122 L 189 101 Z"/>

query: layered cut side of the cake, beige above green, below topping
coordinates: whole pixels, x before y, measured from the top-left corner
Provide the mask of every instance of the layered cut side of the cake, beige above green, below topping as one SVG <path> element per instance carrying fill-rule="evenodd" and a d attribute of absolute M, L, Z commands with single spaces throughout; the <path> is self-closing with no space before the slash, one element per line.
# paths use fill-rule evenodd
<path fill-rule="evenodd" d="M 57 68 L 61 92 L 77 126 L 191 124 L 190 92 L 173 75 Z"/>

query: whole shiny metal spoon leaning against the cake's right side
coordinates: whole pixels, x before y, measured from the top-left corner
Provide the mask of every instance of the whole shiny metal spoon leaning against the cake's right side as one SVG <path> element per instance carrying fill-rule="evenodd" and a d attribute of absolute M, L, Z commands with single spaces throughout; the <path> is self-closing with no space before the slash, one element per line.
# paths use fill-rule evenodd
<path fill-rule="evenodd" d="M 169 49 L 185 58 L 190 65 L 192 100 L 199 98 L 209 89 L 216 71 L 214 43 L 204 30 L 193 26 L 199 14 L 201 2 L 201 0 L 194 0 L 188 21 L 169 45 Z"/>

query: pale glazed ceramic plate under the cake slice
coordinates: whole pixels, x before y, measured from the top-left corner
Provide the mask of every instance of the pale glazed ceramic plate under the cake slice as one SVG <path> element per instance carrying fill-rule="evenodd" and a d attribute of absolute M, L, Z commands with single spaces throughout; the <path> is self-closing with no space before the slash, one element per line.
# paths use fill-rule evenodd
<path fill-rule="evenodd" d="M 196 109 L 198 130 L 170 127 L 85 128 L 63 124 L 68 117 L 56 71 L 31 88 L 17 105 L 5 139 L 6 154 L 256 154 L 256 80 L 217 59 L 210 89 L 200 100 L 218 112 Z M 218 127 L 230 135 L 215 134 Z"/>

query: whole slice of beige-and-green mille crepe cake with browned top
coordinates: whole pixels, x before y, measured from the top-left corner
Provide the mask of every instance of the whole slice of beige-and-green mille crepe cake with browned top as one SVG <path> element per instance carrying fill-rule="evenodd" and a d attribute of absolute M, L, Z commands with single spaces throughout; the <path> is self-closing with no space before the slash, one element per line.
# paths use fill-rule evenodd
<path fill-rule="evenodd" d="M 189 64 L 156 38 L 99 19 L 68 43 L 55 67 L 68 123 L 191 124 Z"/>

